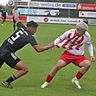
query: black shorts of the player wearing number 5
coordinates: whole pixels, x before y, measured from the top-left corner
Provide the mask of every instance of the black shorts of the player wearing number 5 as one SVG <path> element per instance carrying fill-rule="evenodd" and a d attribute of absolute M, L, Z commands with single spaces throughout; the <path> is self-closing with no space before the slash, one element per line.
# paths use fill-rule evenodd
<path fill-rule="evenodd" d="M 6 48 L 0 48 L 0 67 L 5 62 L 8 66 L 14 68 L 19 61 L 20 59 L 14 53 Z"/>

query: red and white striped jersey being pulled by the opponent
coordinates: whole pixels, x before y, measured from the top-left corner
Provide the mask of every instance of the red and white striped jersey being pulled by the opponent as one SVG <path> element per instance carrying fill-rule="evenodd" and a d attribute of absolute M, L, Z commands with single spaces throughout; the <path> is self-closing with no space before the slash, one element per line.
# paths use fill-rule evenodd
<path fill-rule="evenodd" d="M 75 55 L 84 54 L 85 43 L 92 44 L 89 33 L 86 31 L 83 36 L 78 36 L 76 35 L 76 29 L 66 31 L 54 41 L 54 45 L 59 48 L 65 48 L 68 52 Z"/>

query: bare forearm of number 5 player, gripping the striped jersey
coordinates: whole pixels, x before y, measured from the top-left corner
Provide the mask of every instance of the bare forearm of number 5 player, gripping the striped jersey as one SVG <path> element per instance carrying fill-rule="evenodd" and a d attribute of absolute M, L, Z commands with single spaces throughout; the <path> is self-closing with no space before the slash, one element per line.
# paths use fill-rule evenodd
<path fill-rule="evenodd" d="M 43 52 L 45 50 L 51 49 L 52 47 L 54 47 L 54 43 L 51 42 L 50 44 L 46 45 L 46 46 L 40 46 L 40 45 L 34 45 L 33 48 L 37 51 L 37 52 Z"/>

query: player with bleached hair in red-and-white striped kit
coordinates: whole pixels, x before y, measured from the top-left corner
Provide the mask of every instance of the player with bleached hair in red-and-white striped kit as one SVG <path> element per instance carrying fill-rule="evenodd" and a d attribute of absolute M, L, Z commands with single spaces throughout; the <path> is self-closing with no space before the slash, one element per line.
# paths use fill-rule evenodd
<path fill-rule="evenodd" d="M 56 73 L 69 63 L 73 63 L 80 68 L 72 79 L 72 83 L 79 89 L 81 86 L 79 80 L 87 72 L 91 66 L 91 62 L 84 56 L 85 43 L 88 44 L 88 51 L 90 54 L 91 61 L 95 61 L 93 54 L 93 45 L 91 37 L 87 32 L 88 25 L 84 22 L 76 24 L 76 29 L 71 29 L 54 41 L 54 46 L 59 48 L 65 48 L 64 53 L 60 56 L 57 64 L 49 72 L 45 82 L 41 85 L 41 88 L 45 88 L 49 85 L 50 81 L 56 75 Z"/>

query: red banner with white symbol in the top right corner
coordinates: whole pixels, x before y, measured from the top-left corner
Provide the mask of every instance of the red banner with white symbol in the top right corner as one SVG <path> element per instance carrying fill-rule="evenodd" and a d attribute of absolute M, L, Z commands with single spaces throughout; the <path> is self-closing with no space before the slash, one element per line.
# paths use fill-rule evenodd
<path fill-rule="evenodd" d="M 77 10 L 96 10 L 96 4 L 77 4 Z"/>

